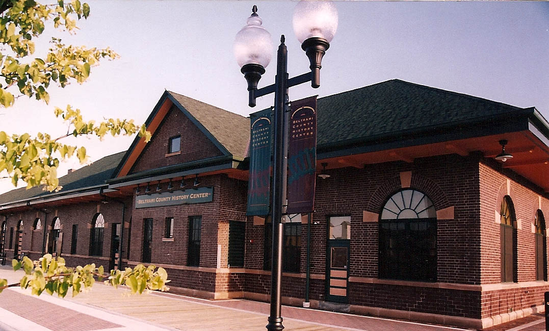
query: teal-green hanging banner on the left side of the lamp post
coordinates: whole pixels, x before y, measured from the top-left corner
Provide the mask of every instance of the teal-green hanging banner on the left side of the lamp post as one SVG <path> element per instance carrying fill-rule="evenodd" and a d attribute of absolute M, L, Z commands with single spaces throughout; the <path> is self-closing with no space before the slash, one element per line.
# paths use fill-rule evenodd
<path fill-rule="evenodd" d="M 250 170 L 247 215 L 269 213 L 271 184 L 271 109 L 250 116 Z"/>

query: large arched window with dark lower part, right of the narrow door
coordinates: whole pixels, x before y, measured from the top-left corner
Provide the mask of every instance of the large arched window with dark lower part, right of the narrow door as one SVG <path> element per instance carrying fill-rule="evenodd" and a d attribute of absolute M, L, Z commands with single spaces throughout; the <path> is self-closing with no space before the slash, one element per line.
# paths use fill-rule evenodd
<path fill-rule="evenodd" d="M 436 210 L 414 189 L 395 193 L 379 221 L 379 278 L 436 281 Z"/>

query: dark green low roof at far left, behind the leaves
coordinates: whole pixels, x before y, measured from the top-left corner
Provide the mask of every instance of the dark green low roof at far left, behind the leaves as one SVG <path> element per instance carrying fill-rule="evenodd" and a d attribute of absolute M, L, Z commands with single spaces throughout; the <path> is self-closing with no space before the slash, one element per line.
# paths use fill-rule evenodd
<path fill-rule="evenodd" d="M 90 165 L 72 171 L 68 175 L 59 178 L 59 185 L 63 186 L 58 192 L 44 192 L 42 187 L 30 189 L 18 188 L 0 195 L 0 205 L 32 198 L 47 198 L 48 195 L 59 195 L 71 190 L 85 189 L 105 185 L 105 180 L 113 175 L 113 171 L 119 164 L 125 152 L 105 156 Z"/>

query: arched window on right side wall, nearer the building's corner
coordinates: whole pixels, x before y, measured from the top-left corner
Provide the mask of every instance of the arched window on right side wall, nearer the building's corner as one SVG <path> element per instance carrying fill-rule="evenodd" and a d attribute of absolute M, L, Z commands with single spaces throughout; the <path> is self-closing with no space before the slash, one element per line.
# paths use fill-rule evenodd
<path fill-rule="evenodd" d="M 500 206 L 501 281 L 517 281 L 517 220 L 513 201 L 506 195 Z"/>

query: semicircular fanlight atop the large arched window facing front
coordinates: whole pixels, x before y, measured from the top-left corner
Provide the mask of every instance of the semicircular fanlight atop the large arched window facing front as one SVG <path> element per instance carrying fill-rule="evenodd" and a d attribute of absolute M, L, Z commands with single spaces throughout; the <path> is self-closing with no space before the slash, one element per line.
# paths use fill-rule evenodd
<path fill-rule="evenodd" d="M 389 198 L 383 207 L 381 218 L 382 220 L 436 218 L 436 210 L 427 195 L 414 189 L 405 189 Z"/>

